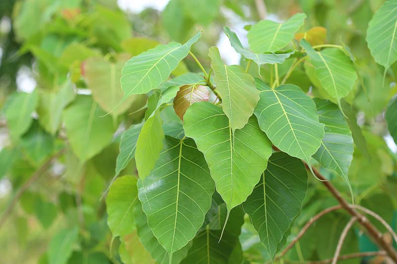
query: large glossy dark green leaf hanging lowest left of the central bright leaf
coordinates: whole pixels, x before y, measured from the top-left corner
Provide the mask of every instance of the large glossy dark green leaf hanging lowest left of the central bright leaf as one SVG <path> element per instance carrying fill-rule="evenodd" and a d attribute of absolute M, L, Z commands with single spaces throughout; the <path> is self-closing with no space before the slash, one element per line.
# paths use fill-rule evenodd
<path fill-rule="evenodd" d="M 138 182 L 138 194 L 147 222 L 170 259 L 195 237 L 213 192 L 208 166 L 194 141 L 165 137 L 154 169 Z"/>

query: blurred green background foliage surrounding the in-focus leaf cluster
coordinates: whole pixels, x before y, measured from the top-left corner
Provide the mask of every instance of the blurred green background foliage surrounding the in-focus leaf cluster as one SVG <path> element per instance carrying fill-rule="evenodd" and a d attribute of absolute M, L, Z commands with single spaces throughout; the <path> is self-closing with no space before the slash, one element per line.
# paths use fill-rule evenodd
<path fill-rule="evenodd" d="M 114 175 L 120 133 L 142 119 L 146 96 L 134 96 L 120 111 L 98 123 L 94 121 L 94 128 L 101 132 L 95 135 L 99 143 L 89 150 L 76 152 L 78 148 L 70 147 L 67 138 L 83 133 L 73 124 L 84 124 L 92 102 L 99 105 L 95 116 L 114 107 L 106 90 L 115 85 L 123 96 L 118 81 L 120 69 L 131 56 L 159 43 L 183 43 L 204 29 L 193 47 L 204 66 L 209 65 L 207 51 L 211 46 L 220 47 L 227 63 L 245 65 L 246 61 L 231 49 L 223 27 L 237 32 L 247 46 L 244 26 L 254 24 L 261 16 L 281 22 L 296 12 L 305 12 L 308 17 L 301 32 L 325 27 L 326 43 L 343 43 L 354 54 L 362 82 L 356 83 L 346 101 L 357 114 L 366 140 L 366 148 L 355 149 L 349 170 L 355 203 L 377 212 L 397 229 L 397 147 L 383 118 L 385 107 L 397 92 L 397 63 L 387 71 L 382 85 L 384 69 L 375 63 L 365 41 L 368 22 L 383 0 L 265 0 L 265 5 L 258 0 L 137 2 L 0 1 L 1 213 L 15 196 L 19 198 L 12 211 L 6 212 L 6 221 L 0 223 L 1 263 L 121 263 L 118 239 L 110 247 L 106 207 L 100 198 Z M 287 59 L 279 66 L 280 78 L 292 61 Z M 328 99 L 312 69 L 310 63 L 299 66 L 288 82 L 310 95 Z M 173 76 L 189 71 L 199 71 L 191 56 Z M 252 65 L 250 73 L 259 76 L 258 72 Z M 265 80 L 271 78 L 269 66 L 262 66 L 260 73 Z M 82 94 L 92 98 L 83 100 Z M 67 107 L 62 115 L 72 102 L 73 107 Z M 21 108 L 24 114 L 13 116 Z M 172 107 L 167 108 L 162 112 L 164 123 L 179 122 Z M 76 116 L 82 116 L 82 121 L 74 120 Z M 32 173 L 53 155 L 60 155 L 58 161 L 25 190 Z M 324 169 L 322 173 L 350 199 L 340 177 Z M 123 174 L 136 174 L 133 161 Z M 315 213 L 336 204 L 320 182 L 309 179 L 309 193 L 292 229 L 294 234 Z M 24 191 L 18 192 L 21 189 Z M 287 259 L 299 263 L 331 258 L 347 221 L 348 217 L 338 211 L 322 218 Z M 385 231 L 382 226 L 378 228 Z M 376 249 L 359 230 L 349 236 L 342 254 Z M 248 219 L 240 242 L 246 263 L 266 261 L 264 246 Z M 130 263 L 144 263 L 133 251 L 131 245 L 123 246 Z"/>

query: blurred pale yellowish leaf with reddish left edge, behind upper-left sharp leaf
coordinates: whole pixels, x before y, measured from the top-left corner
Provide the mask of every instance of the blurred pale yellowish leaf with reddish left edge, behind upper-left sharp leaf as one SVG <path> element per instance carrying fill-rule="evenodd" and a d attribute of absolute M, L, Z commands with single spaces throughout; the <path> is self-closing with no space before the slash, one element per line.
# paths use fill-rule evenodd
<path fill-rule="evenodd" d="M 123 99 L 124 94 L 120 85 L 121 69 L 129 57 L 129 54 L 121 53 L 115 57 L 115 62 L 98 56 L 84 61 L 84 79 L 88 89 L 92 91 L 95 102 L 106 112 L 112 111 Z M 112 111 L 112 116 L 116 118 L 124 113 L 135 100 L 136 96 L 126 99 Z"/>

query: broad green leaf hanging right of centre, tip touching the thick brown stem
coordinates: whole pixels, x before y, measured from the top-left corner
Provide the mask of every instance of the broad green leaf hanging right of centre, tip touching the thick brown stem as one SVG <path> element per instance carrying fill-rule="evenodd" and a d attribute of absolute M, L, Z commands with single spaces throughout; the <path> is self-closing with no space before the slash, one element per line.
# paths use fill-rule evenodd
<path fill-rule="evenodd" d="M 254 111 L 259 126 L 278 149 L 311 164 L 324 137 L 313 100 L 293 84 L 263 89 Z"/>

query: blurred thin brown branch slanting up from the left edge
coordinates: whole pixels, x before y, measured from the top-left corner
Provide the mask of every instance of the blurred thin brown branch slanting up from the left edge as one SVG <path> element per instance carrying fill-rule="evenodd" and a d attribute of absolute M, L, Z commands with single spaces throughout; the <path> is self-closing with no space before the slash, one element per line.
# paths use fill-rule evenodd
<path fill-rule="evenodd" d="M 7 217 L 11 214 L 11 211 L 14 209 L 16 203 L 18 202 L 19 198 L 22 194 L 30 187 L 30 185 L 37 180 L 51 165 L 52 161 L 58 157 L 60 157 L 64 153 L 65 149 L 61 149 L 53 156 L 47 159 L 46 162 L 43 163 L 30 177 L 29 179 L 19 188 L 19 190 L 15 193 L 14 197 L 12 198 L 10 204 L 8 205 L 7 209 L 4 211 L 0 218 L 0 228 L 7 220 Z"/>

